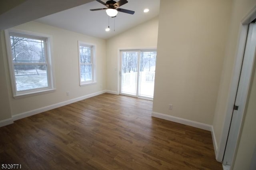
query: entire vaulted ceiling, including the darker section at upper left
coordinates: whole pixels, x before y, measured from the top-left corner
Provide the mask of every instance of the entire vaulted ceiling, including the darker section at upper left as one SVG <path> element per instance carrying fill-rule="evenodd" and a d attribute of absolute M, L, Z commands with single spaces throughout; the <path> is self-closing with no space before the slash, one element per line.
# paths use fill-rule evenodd
<path fill-rule="evenodd" d="M 121 8 L 135 11 L 134 15 L 118 12 L 116 18 L 109 18 L 105 10 L 90 11 L 105 7 L 95 0 L 1 0 L 0 30 L 35 20 L 81 34 L 108 39 L 158 16 L 159 6 L 160 0 L 128 0 L 128 3 Z M 144 13 L 145 8 L 150 11 Z M 108 23 L 110 31 L 106 32 Z"/>

